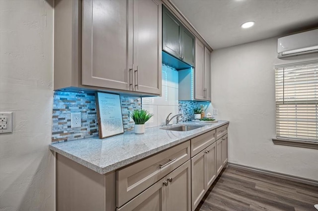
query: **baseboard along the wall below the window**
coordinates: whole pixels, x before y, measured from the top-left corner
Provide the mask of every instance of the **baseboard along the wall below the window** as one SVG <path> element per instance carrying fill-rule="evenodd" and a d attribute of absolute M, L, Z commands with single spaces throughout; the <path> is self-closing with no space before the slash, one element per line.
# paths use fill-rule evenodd
<path fill-rule="evenodd" d="M 228 165 L 230 167 L 239 168 L 239 169 L 243 169 L 243 170 L 247 170 L 247 171 L 251 171 L 251 172 L 256 172 L 256 173 L 261 173 L 261 174 L 265 174 L 268 176 L 273 176 L 273 177 L 278 177 L 281 179 L 286 179 L 286 180 L 290 180 L 290 181 L 294 181 L 294 182 L 300 182 L 300 183 L 304 183 L 304 184 L 308 184 L 308 185 L 318 186 L 317 180 L 292 176 L 292 175 L 288 175 L 288 174 L 282 174 L 279 172 L 264 170 L 264 169 L 260 169 L 260 168 L 254 168 L 254 167 L 240 165 L 240 164 L 231 163 L 231 162 L 229 162 Z"/>

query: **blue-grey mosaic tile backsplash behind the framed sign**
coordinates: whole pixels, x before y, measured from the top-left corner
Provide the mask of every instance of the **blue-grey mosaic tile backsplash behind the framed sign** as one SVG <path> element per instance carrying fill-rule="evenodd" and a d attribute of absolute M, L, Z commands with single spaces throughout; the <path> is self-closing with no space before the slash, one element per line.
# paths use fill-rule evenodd
<path fill-rule="evenodd" d="M 124 131 L 134 128 L 129 111 L 141 108 L 141 98 L 120 96 Z M 81 127 L 71 128 L 71 112 L 81 113 Z M 98 136 L 94 93 L 55 91 L 52 114 L 52 141 L 71 141 Z"/>

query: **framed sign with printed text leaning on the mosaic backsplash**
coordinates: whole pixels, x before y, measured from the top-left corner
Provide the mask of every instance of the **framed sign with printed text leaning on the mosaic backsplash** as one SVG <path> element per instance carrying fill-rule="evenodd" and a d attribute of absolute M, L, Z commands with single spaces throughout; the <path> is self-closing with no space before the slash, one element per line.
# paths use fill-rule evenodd
<path fill-rule="evenodd" d="M 96 92 L 96 110 L 99 139 L 124 133 L 120 95 Z"/>

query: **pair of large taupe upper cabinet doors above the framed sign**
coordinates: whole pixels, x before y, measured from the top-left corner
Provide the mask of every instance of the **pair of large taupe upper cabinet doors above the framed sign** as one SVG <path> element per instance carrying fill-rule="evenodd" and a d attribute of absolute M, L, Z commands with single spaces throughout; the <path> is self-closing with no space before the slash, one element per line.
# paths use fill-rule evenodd
<path fill-rule="evenodd" d="M 83 1 L 82 85 L 161 94 L 161 1 Z"/>

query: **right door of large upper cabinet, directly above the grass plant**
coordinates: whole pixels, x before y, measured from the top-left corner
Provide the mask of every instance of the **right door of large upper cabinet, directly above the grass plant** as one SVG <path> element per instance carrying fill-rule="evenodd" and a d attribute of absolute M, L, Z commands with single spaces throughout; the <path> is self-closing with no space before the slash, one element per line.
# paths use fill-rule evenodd
<path fill-rule="evenodd" d="M 134 90 L 161 94 L 161 24 L 159 0 L 134 0 Z"/>

